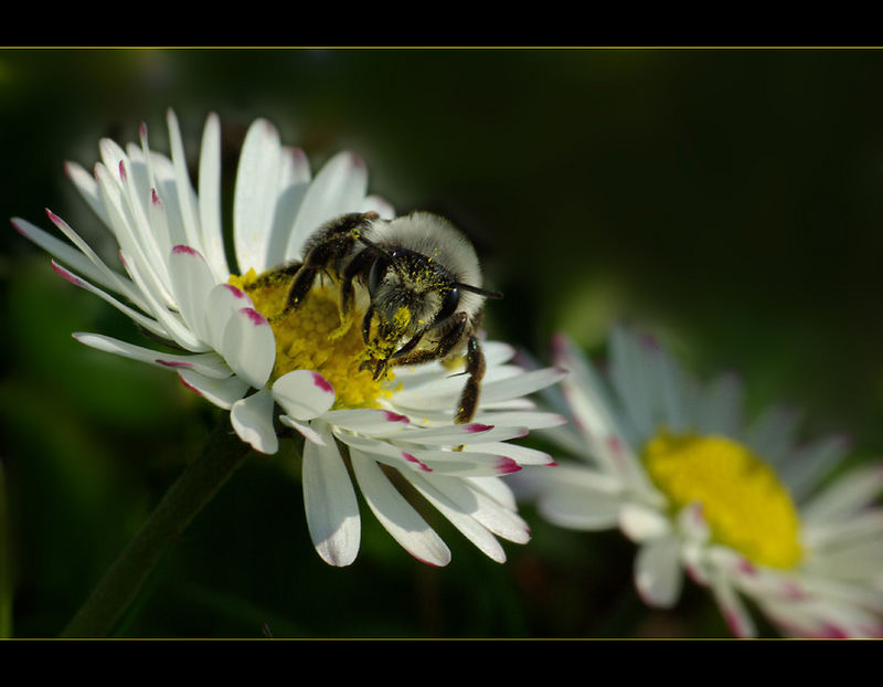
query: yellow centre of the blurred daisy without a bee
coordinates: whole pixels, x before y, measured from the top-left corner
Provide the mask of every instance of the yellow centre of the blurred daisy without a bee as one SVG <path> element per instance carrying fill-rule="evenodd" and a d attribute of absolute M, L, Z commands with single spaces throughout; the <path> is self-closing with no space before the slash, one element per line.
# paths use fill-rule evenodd
<path fill-rule="evenodd" d="M 713 540 L 774 568 L 791 568 L 802 558 L 800 519 L 790 495 L 742 444 L 660 432 L 645 445 L 643 462 L 674 510 L 702 505 Z"/>

